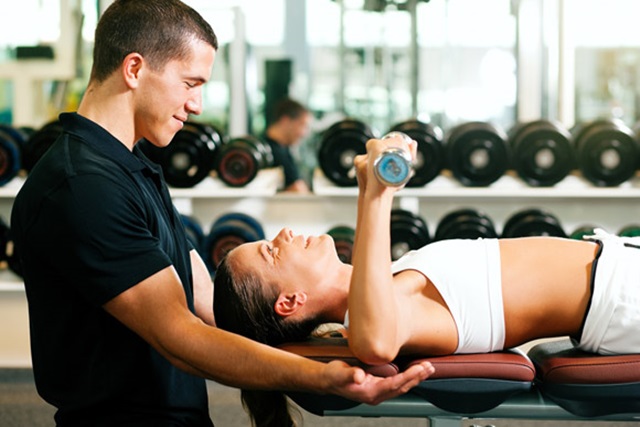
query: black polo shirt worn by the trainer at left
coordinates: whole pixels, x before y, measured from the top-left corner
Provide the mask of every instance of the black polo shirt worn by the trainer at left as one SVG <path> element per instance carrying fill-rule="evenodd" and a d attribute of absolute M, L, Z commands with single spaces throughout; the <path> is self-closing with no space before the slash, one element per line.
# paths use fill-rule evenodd
<path fill-rule="evenodd" d="M 160 169 L 82 116 L 60 120 L 11 216 L 38 392 L 59 425 L 211 425 L 204 380 L 102 309 L 173 265 L 193 311 L 190 245 Z"/>

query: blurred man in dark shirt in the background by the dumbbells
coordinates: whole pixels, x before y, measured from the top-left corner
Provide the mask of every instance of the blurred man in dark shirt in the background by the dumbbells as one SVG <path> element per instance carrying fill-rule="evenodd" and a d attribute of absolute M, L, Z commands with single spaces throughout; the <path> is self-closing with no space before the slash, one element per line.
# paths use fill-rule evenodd
<path fill-rule="evenodd" d="M 311 112 L 293 99 L 284 98 L 274 106 L 272 122 L 267 126 L 263 138 L 271 146 L 275 166 L 282 166 L 283 191 L 310 192 L 309 186 L 300 176 L 291 148 L 309 134 L 312 119 Z"/>

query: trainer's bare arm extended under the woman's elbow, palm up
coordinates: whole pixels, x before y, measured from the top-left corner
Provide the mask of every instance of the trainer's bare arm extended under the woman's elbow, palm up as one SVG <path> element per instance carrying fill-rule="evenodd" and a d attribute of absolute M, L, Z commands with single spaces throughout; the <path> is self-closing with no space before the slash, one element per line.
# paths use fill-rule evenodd
<path fill-rule="evenodd" d="M 406 393 L 433 372 L 425 364 L 378 378 L 342 362 L 315 362 L 209 326 L 188 310 L 173 267 L 104 308 L 175 366 L 233 387 L 315 391 L 376 404 Z"/>

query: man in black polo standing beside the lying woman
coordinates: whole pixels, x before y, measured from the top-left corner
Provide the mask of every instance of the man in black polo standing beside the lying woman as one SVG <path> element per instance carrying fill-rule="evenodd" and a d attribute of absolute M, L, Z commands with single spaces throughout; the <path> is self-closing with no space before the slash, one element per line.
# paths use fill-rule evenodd
<path fill-rule="evenodd" d="M 34 376 L 59 426 L 211 426 L 204 378 L 376 403 L 432 370 L 365 376 L 215 328 L 211 277 L 136 141 L 164 147 L 201 113 L 217 45 L 179 0 L 116 0 L 77 113 L 15 199 Z"/>

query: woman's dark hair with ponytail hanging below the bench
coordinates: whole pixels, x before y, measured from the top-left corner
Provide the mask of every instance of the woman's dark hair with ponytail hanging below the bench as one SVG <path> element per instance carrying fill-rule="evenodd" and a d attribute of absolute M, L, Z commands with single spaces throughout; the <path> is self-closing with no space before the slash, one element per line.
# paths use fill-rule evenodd
<path fill-rule="evenodd" d="M 317 319 L 295 322 L 274 310 L 275 287 L 264 286 L 248 272 L 240 274 L 225 256 L 216 267 L 213 311 L 220 329 L 276 346 L 309 337 Z M 242 390 L 242 403 L 256 427 L 291 427 L 296 423 L 287 398 L 280 391 Z"/>

